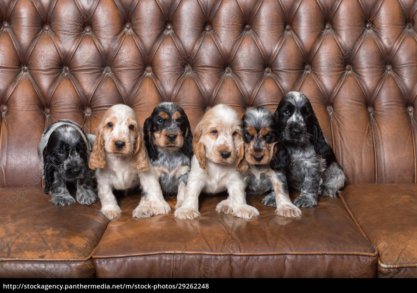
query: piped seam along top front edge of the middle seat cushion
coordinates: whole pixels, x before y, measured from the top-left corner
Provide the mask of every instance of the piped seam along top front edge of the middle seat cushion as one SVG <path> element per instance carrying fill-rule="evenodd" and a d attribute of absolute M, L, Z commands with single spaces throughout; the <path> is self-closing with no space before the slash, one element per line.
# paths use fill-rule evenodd
<path fill-rule="evenodd" d="M 369 256 L 375 257 L 378 253 L 360 253 L 360 252 L 329 252 L 329 251 L 314 251 L 314 252 L 274 252 L 274 253 L 204 253 L 204 252 L 176 252 L 176 251 L 168 251 L 168 252 L 155 252 L 155 253 L 133 253 L 129 255 L 95 255 L 93 259 L 100 259 L 100 258 L 130 258 L 136 256 L 147 256 L 147 255 L 163 255 L 163 254 L 183 254 L 183 255 L 236 255 L 236 256 L 262 256 L 262 255 L 358 255 L 358 256 Z"/>

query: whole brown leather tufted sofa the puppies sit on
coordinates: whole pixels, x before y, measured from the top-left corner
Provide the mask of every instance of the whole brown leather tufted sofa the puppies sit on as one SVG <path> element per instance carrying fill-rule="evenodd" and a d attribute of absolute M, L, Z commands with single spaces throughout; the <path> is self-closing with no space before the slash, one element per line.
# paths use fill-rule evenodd
<path fill-rule="evenodd" d="M 416 277 L 417 4 L 413 0 L 3 0 L 0 2 L 1 277 Z M 299 90 L 345 171 L 339 198 L 298 218 L 56 206 L 36 145 L 52 121 L 91 133 L 124 103 L 161 101 L 194 128 L 220 103 L 271 111 Z M 295 197 L 296 194 L 293 194 Z M 175 198 L 168 198 L 171 207 Z"/>

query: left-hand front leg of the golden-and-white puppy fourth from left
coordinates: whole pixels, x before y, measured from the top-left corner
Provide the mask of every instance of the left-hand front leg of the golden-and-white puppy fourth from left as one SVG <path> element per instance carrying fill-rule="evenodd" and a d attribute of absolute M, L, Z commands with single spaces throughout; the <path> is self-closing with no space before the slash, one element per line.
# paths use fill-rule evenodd
<path fill-rule="evenodd" d="M 193 220 L 200 216 L 198 212 L 198 197 L 203 190 L 204 182 L 198 176 L 188 178 L 187 186 L 184 192 L 184 201 L 174 212 L 177 219 Z"/>

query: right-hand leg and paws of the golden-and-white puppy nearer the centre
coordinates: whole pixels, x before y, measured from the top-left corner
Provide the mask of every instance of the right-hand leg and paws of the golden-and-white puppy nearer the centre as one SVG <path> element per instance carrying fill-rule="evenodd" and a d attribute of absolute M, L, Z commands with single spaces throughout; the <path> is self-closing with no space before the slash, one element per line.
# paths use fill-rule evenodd
<path fill-rule="evenodd" d="M 244 219 L 259 216 L 258 210 L 246 203 L 246 184 L 241 174 L 234 174 L 233 178 L 226 182 L 226 188 L 229 197 L 219 202 L 216 211 L 232 212 L 232 215 Z"/>

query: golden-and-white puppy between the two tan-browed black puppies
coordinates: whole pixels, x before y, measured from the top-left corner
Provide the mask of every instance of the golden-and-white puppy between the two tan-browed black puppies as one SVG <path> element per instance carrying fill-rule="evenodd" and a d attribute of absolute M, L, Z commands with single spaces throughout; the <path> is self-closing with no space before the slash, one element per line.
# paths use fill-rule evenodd
<path fill-rule="evenodd" d="M 194 219 L 198 212 L 200 192 L 215 194 L 227 190 L 216 211 L 250 219 L 259 215 L 246 204 L 244 177 L 248 168 L 244 160 L 241 134 L 242 121 L 231 107 L 220 104 L 209 109 L 194 131 L 191 172 L 184 201 L 174 215 L 178 219 Z"/>

